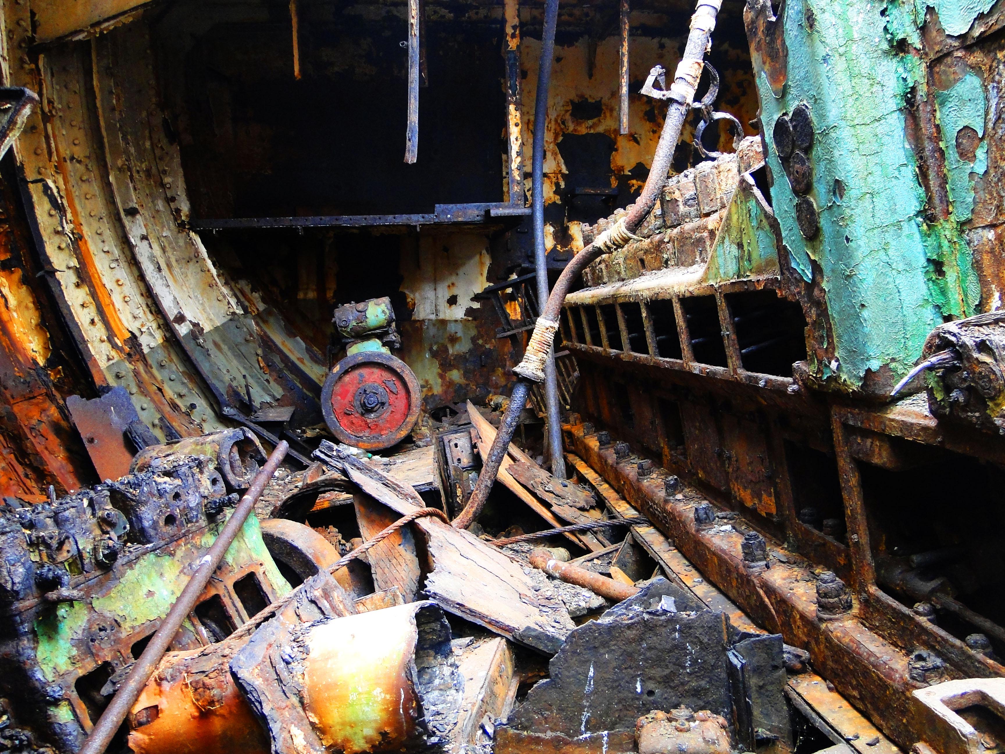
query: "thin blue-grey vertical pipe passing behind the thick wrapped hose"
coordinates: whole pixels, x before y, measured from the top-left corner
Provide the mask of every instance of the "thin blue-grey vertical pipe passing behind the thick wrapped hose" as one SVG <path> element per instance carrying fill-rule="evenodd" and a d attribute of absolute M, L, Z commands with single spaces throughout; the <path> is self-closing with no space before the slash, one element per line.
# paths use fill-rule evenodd
<path fill-rule="evenodd" d="M 545 135 L 548 132 L 548 97 L 555 64 L 555 27 L 558 24 L 559 0 L 545 3 L 545 25 L 541 32 L 541 62 L 538 68 L 538 91 L 534 101 L 534 156 L 531 187 L 534 214 L 534 268 L 538 273 L 538 316 L 548 301 L 548 249 L 545 248 Z M 565 479 L 565 453 L 562 451 L 562 417 L 559 408 L 559 378 L 555 371 L 555 349 L 545 362 L 545 412 L 548 414 L 548 455 L 552 476 Z"/>

